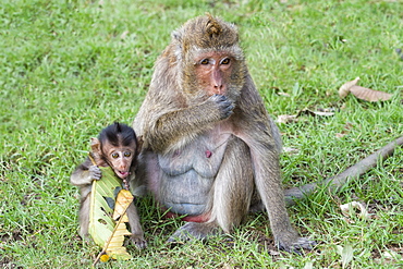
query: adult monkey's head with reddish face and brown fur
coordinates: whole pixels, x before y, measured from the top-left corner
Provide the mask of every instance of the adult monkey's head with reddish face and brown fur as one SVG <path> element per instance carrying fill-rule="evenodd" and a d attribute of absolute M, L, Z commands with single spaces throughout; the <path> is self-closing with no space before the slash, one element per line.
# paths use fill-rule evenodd
<path fill-rule="evenodd" d="M 172 45 L 188 101 L 212 95 L 237 99 L 246 66 L 235 25 L 210 14 L 199 16 L 173 32 Z"/>

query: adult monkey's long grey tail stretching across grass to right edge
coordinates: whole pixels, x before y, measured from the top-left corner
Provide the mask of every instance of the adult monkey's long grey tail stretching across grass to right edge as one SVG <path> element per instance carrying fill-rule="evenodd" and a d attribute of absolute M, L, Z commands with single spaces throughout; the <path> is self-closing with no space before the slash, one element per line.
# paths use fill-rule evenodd
<path fill-rule="evenodd" d="M 366 173 L 369 169 L 376 167 L 379 160 L 387 159 L 389 156 L 393 154 L 394 149 L 401 145 L 403 145 L 403 136 L 389 143 L 387 146 L 382 147 L 381 149 L 377 150 L 376 152 L 371 154 L 365 159 L 358 161 L 357 163 L 347 168 L 346 170 L 344 170 L 344 172 L 335 176 L 331 176 L 329 179 L 316 183 L 305 184 L 301 187 L 292 187 L 285 189 L 284 195 L 286 205 L 288 206 L 294 205 L 295 199 L 305 198 L 307 195 L 316 191 L 318 186 L 327 186 L 330 191 L 334 191 L 341 187 L 349 179 L 361 176 L 362 174 Z"/>

